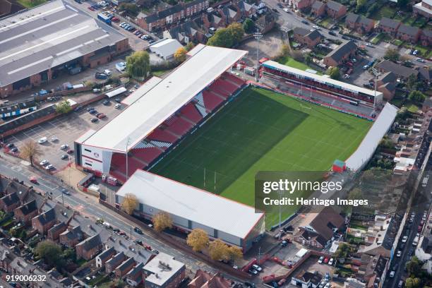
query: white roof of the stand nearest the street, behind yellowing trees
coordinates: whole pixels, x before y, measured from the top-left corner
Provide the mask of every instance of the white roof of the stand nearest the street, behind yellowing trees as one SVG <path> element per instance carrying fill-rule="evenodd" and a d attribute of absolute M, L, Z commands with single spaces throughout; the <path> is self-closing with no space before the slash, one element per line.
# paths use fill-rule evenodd
<path fill-rule="evenodd" d="M 255 208 L 193 186 L 136 170 L 116 193 L 135 194 L 140 203 L 203 224 L 241 239 L 264 216 Z"/>

